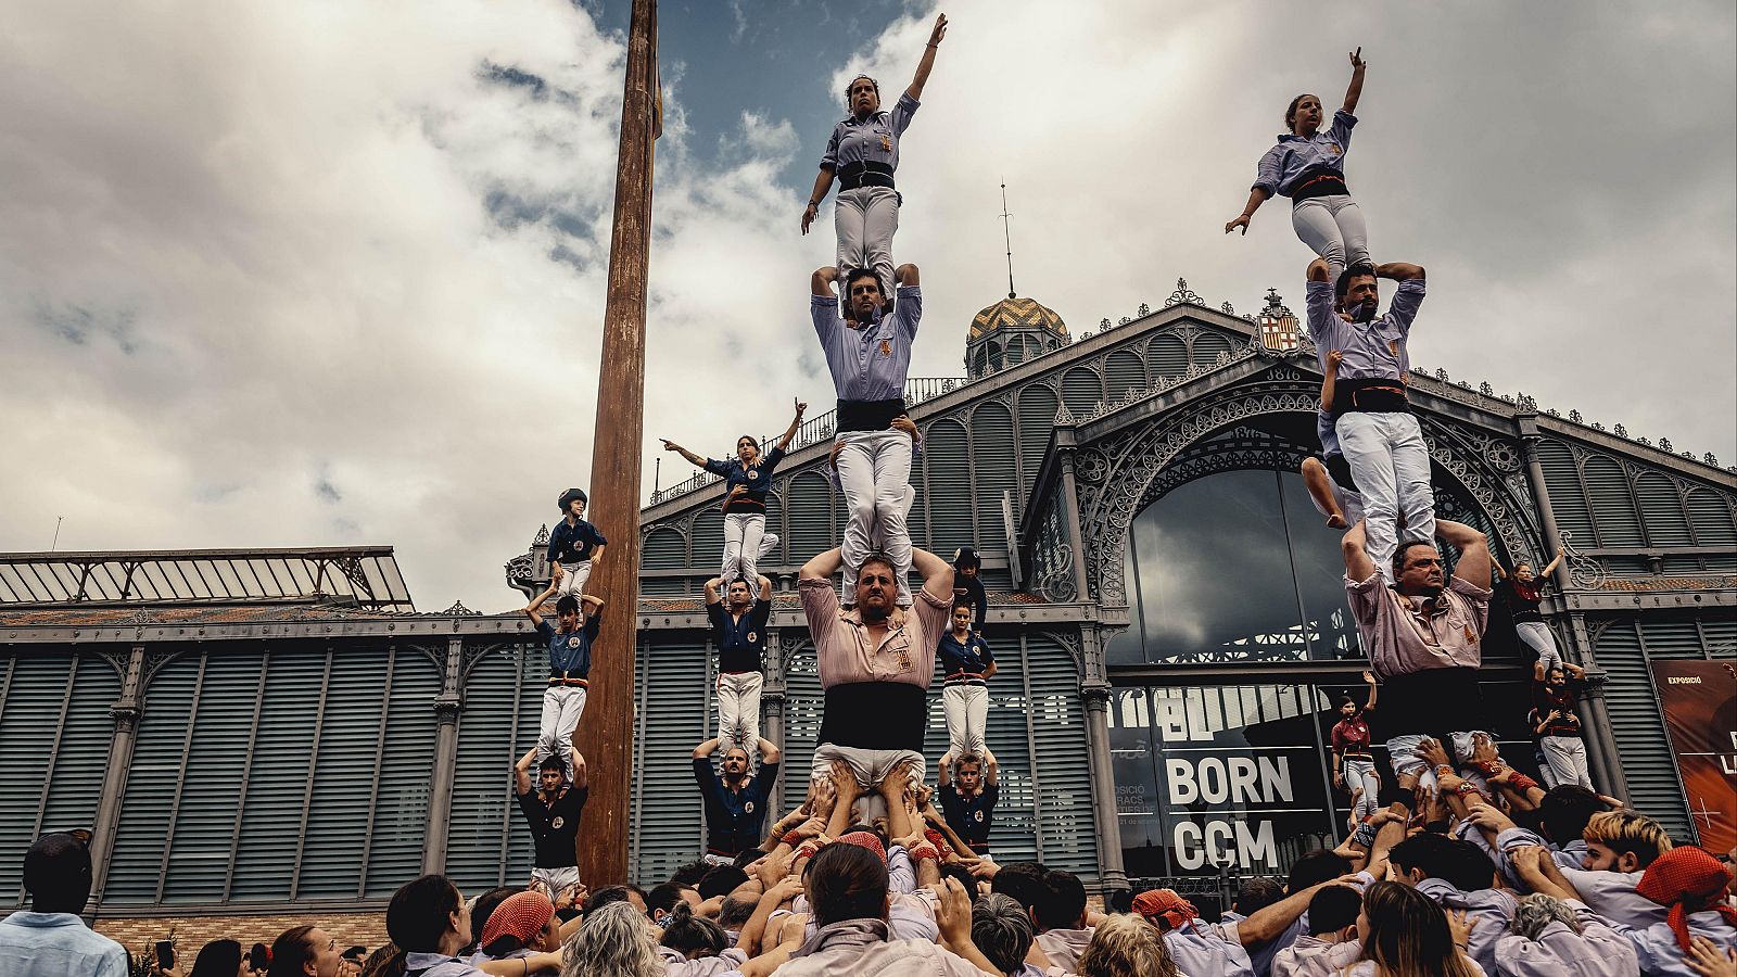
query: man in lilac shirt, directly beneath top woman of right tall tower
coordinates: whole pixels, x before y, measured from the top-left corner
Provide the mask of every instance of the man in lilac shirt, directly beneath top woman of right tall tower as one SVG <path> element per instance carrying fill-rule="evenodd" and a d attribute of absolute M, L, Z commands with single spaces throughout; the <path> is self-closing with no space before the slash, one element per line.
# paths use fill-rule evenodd
<path fill-rule="evenodd" d="M 1388 313 L 1379 318 L 1377 278 L 1400 283 Z M 1325 261 L 1317 257 L 1308 266 L 1310 339 L 1322 372 L 1334 372 L 1334 433 L 1364 497 L 1369 560 L 1390 582 L 1393 548 L 1402 535 L 1435 539 L 1430 447 L 1405 400 L 1405 374 L 1410 372 L 1405 344 L 1423 296 L 1424 271 L 1417 264 L 1357 264 L 1337 282 L 1329 282 Z"/>

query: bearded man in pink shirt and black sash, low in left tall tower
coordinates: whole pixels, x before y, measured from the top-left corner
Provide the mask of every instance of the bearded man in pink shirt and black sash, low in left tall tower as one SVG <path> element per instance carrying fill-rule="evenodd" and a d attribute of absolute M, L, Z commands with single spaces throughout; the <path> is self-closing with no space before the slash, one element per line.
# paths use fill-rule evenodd
<path fill-rule="evenodd" d="M 839 607 L 832 574 L 844 562 L 841 549 L 809 560 L 797 581 L 808 633 L 815 638 L 825 714 L 809 779 L 823 781 L 834 760 L 844 760 L 867 789 L 855 821 L 884 814 L 874 788 L 895 768 L 915 765 L 921 784 L 926 763 L 922 737 L 929 725 L 928 692 L 935 680 L 935 643 L 954 605 L 954 568 L 940 556 L 910 551 L 922 591 L 912 614 L 895 621 L 893 562 L 870 555 L 855 581 L 855 608 Z"/>

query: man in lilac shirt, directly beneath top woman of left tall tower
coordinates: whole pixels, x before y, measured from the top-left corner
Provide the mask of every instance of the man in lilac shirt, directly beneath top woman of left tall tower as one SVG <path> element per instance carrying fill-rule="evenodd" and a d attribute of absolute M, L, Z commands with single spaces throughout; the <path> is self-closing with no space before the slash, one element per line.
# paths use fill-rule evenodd
<path fill-rule="evenodd" d="M 898 605 L 912 603 L 910 532 L 905 528 L 912 436 L 893 421 L 905 417 L 905 374 L 922 320 L 922 289 L 915 264 L 900 264 L 895 275 L 898 306 L 889 315 L 882 315 L 886 296 L 872 271 L 858 268 L 846 276 L 851 322 L 839 318 L 839 299 L 832 296 L 837 269 L 820 268 L 811 278 L 815 334 L 839 395 L 837 471 L 849 511 L 841 548 L 846 605 L 855 600 L 856 568 L 874 551 L 877 535 L 886 541 L 882 549 L 893 562 Z M 935 635 L 938 629 L 931 638 Z"/>

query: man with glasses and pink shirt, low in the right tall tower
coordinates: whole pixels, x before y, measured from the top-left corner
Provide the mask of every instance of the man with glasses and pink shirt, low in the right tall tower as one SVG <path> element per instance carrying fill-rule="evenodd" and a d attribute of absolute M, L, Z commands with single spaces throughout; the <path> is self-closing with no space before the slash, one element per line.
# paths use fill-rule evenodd
<path fill-rule="evenodd" d="M 1400 800 L 1417 810 L 1414 791 L 1435 788 L 1435 770 L 1419 753 L 1424 739 L 1440 741 L 1468 781 L 1503 767 L 1496 737 L 1480 723 L 1478 668 L 1490 610 L 1490 549 L 1483 534 L 1435 520 L 1442 541 L 1459 551 L 1454 575 L 1435 544 L 1407 539 L 1393 551 L 1393 584 L 1369 558 L 1364 537 L 1370 520 L 1344 534 L 1344 589 L 1369 664 L 1381 680 L 1377 725 Z"/>

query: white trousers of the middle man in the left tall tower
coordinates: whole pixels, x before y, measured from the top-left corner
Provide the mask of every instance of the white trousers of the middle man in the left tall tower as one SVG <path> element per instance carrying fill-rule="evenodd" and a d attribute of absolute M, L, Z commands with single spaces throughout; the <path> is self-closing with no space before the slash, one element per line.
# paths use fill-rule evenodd
<path fill-rule="evenodd" d="M 856 603 L 856 570 L 877 549 L 893 562 L 900 607 L 910 607 L 910 435 L 846 431 L 841 435 L 839 487 L 844 492 L 844 603 Z"/>

